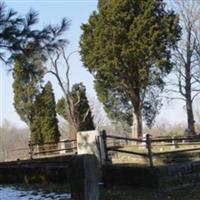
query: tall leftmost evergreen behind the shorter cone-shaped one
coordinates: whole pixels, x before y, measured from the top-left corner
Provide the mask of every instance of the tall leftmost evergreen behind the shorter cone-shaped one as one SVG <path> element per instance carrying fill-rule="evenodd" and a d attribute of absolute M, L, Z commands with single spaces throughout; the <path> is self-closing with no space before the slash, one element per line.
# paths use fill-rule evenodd
<path fill-rule="evenodd" d="M 26 51 L 28 52 L 28 49 Z M 44 75 L 41 55 L 31 52 L 30 50 L 26 53 L 26 57 L 23 54 L 18 55 L 13 69 L 14 107 L 28 126 L 32 116 L 32 106 L 40 93 Z"/>

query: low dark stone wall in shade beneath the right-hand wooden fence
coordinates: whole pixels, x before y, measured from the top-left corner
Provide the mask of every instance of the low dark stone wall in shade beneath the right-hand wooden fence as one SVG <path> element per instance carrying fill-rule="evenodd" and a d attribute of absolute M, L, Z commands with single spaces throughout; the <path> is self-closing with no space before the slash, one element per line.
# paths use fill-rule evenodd
<path fill-rule="evenodd" d="M 153 187 L 173 190 L 200 184 L 200 162 L 159 167 L 105 165 L 102 169 L 105 184 Z"/>

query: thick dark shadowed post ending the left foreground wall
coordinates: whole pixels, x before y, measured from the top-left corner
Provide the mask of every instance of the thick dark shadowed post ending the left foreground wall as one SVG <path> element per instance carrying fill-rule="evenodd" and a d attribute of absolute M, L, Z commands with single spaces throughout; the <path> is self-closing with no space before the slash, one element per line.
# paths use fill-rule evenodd
<path fill-rule="evenodd" d="M 69 183 L 73 200 L 99 200 L 99 168 L 95 155 L 71 157 Z"/>

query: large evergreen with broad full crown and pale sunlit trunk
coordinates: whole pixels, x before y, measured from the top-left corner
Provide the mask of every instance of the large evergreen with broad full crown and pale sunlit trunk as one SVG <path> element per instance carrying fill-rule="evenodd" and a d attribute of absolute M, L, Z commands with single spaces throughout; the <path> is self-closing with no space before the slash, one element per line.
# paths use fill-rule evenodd
<path fill-rule="evenodd" d="M 158 111 L 151 105 L 151 91 L 163 89 L 163 78 L 172 68 L 171 49 L 180 38 L 178 23 L 163 0 L 101 0 L 98 12 L 81 27 L 80 53 L 95 78 L 97 95 L 105 105 L 113 91 L 125 93 L 126 104 L 133 107 L 133 136 L 142 135 L 144 102 L 147 109 Z"/>

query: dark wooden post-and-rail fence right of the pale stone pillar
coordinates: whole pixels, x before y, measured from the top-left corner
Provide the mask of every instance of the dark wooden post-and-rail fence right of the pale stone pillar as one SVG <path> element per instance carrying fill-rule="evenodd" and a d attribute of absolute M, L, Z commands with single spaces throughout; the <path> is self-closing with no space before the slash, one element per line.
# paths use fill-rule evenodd
<path fill-rule="evenodd" d="M 104 148 L 106 153 L 106 160 L 109 161 L 110 152 L 119 152 L 135 156 L 141 156 L 142 158 L 147 158 L 149 160 L 149 166 L 154 166 L 154 158 L 168 154 L 169 156 L 178 153 L 188 153 L 194 151 L 200 151 L 200 136 L 193 137 L 173 137 L 173 138 L 153 138 L 151 135 L 147 134 L 145 138 L 125 138 L 113 135 L 107 135 L 105 131 L 101 134 L 102 140 L 104 141 Z M 113 144 L 109 145 L 109 140 L 114 140 Z M 116 142 L 119 141 L 119 142 Z M 123 147 L 125 143 L 132 143 L 132 145 L 141 145 L 145 147 L 146 152 L 139 151 L 129 151 L 124 150 Z M 121 145 L 122 144 L 122 145 Z M 175 150 L 154 152 L 153 147 L 170 145 L 174 146 Z M 184 145 L 184 148 L 181 146 Z M 191 147 L 191 146 L 197 147 Z"/>

